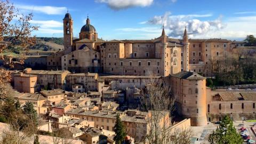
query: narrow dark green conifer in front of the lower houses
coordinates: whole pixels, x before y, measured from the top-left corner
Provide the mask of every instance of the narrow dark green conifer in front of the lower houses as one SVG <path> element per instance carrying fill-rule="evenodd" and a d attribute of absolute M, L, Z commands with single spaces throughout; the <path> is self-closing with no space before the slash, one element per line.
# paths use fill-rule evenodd
<path fill-rule="evenodd" d="M 114 126 L 114 132 L 116 133 L 116 135 L 114 137 L 114 141 L 116 142 L 116 144 L 121 144 L 124 141 L 126 133 L 125 133 L 124 124 L 121 121 L 119 114 L 116 115 L 116 123 Z"/>

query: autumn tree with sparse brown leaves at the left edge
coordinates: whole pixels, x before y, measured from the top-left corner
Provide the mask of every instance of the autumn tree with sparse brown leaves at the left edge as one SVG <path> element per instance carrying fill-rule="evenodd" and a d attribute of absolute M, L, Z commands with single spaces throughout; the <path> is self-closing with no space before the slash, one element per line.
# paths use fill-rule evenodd
<path fill-rule="evenodd" d="M 8 0 L 0 0 L 0 59 L 13 67 L 5 52 L 12 53 L 15 49 L 28 51 L 28 47 L 35 44 L 36 37 L 31 32 L 37 30 L 37 26 L 31 26 L 33 14 L 22 14 Z M 19 54 L 20 63 L 24 63 L 24 55 Z M 0 99 L 6 98 L 6 85 L 10 82 L 10 72 L 0 69 Z"/>

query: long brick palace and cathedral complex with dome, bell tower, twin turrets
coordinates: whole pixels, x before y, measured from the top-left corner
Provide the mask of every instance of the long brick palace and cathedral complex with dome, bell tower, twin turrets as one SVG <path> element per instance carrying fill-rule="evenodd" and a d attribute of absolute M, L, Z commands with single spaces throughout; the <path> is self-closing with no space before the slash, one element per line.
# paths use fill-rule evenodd
<path fill-rule="evenodd" d="M 64 50 L 47 57 L 47 68 L 75 73 L 168 76 L 192 70 L 207 77 L 213 61 L 228 57 L 238 44 L 220 38 L 188 39 L 186 28 L 182 39 L 169 38 L 163 28 L 155 39 L 104 41 L 89 18 L 79 38 L 73 39 L 70 13 L 63 19 L 63 33 Z"/>

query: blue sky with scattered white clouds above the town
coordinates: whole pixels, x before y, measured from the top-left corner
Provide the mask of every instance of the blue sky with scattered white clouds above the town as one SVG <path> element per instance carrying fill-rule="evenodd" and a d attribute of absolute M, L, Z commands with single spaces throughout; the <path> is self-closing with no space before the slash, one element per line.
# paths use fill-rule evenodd
<path fill-rule="evenodd" d="M 165 32 L 180 38 L 185 27 L 190 38 L 241 40 L 256 34 L 255 0 L 12 0 L 22 13 L 34 13 L 37 36 L 63 37 L 62 19 L 74 20 L 74 36 L 87 15 L 99 38 L 151 39 Z"/>

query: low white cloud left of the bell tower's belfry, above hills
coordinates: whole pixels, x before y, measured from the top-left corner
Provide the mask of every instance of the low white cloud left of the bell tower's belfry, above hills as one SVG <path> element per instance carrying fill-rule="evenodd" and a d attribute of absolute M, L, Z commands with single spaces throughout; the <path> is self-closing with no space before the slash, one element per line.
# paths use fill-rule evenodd
<path fill-rule="evenodd" d="M 30 23 L 33 23 L 40 28 L 58 28 L 63 27 L 63 23 L 55 20 L 30 20 Z"/>

